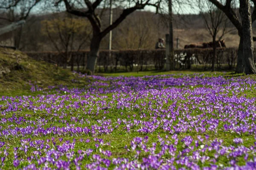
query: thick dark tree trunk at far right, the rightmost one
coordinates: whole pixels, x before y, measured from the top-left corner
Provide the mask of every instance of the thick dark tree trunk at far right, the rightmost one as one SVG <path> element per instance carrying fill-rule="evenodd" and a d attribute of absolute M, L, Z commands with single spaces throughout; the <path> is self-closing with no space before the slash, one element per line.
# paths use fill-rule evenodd
<path fill-rule="evenodd" d="M 250 14 L 249 0 L 239 0 L 243 32 L 244 72 L 245 74 L 256 74 L 256 67 L 253 61 L 253 34 Z"/>

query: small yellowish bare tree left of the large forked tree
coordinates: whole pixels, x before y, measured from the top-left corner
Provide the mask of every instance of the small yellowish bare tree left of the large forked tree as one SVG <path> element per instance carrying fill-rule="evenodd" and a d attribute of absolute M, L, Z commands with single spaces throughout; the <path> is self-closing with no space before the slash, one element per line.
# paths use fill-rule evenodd
<path fill-rule="evenodd" d="M 73 59 L 70 51 L 79 51 L 84 43 L 90 40 L 91 30 L 88 21 L 69 14 L 68 17 L 44 20 L 41 23 L 43 35 L 48 36 L 52 45 L 63 57 L 64 68 L 66 69 L 67 63 L 71 61 L 71 70 L 73 71 Z M 74 47 L 75 44 L 77 44 L 77 49 Z"/>

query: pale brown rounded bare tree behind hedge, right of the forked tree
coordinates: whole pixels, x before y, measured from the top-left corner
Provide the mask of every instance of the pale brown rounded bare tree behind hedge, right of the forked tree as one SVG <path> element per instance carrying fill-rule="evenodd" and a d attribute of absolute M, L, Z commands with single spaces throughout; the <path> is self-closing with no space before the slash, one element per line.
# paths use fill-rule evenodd
<path fill-rule="evenodd" d="M 154 14 L 138 12 L 131 14 L 115 30 L 114 49 L 151 49 L 158 36 L 157 25 L 152 20 Z M 137 17 L 134 17 L 137 16 Z M 153 41 L 152 41 L 153 40 Z"/>

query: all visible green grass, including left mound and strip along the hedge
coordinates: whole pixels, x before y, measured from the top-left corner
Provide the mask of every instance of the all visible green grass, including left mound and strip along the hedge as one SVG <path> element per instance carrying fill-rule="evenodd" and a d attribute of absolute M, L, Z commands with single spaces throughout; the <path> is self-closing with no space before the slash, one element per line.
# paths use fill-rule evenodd
<path fill-rule="evenodd" d="M 12 58 L 9 58 L 10 54 L 6 54 L 6 53 L 13 53 Z M 15 65 L 15 63 L 17 63 L 17 55 L 19 56 L 19 61 L 18 64 L 20 66 L 22 66 L 23 69 L 20 70 L 15 70 L 13 68 L 13 66 Z M 64 86 L 68 86 L 69 88 L 86 88 L 85 85 L 88 84 L 88 81 L 91 80 L 90 78 L 78 78 L 76 75 L 74 75 L 72 72 L 70 72 L 69 70 L 65 70 L 65 69 L 61 69 L 61 68 L 56 68 L 56 66 L 43 62 L 43 61 L 35 61 L 32 60 L 28 57 L 26 57 L 26 55 L 18 52 L 18 51 L 12 51 L 12 50 L 7 50 L 7 51 L 2 51 L 2 53 L 0 53 L 0 64 L 5 65 L 6 67 L 8 67 L 11 72 L 9 72 L 6 75 L 3 75 L 0 78 L 0 96 L 22 96 L 22 95 L 31 95 L 31 96 L 37 96 L 39 94 L 42 95 L 47 95 L 41 91 L 36 91 L 36 92 L 31 92 L 30 88 L 31 86 L 29 85 L 29 81 L 31 81 L 31 83 L 33 84 L 37 84 L 38 86 L 40 86 L 41 88 L 45 90 L 47 90 L 47 86 L 58 86 L 58 85 L 64 85 Z M 171 71 L 171 72 L 155 72 L 155 71 L 148 71 L 148 72 L 125 72 L 125 73 L 99 73 L 97 75 L 103 75 L 103 76 L 144 76 L 144 75 L 169 75 L 169 74 L 175 74 L 175 77 L 182 77 L 184 75 L 189 75 L 189 76 L 193 76 L 193 74 L 204 74 L 207 77 L 210 76 L 224 76 L 227 78 L 231 78 L 231 77 L 237 77 L 237 76 L 243 76 L 244 78 L 247 78 L 248 76 L 245 76 L 243 74 L 233 74 L 233 72 L 193 72 L 193 71 Z M 256 76 L 255 75 L 250 75 L 250 78 L 255 79 Z M 74 82 L 72 81 L 73 79 L 76 79 L 77 81 Z M 107 82 L 110 83 L 110 82 Z M 197 87 L 201 87 L 201 86 L 197 86 Z M 197 88 L 197 87 L 193 87 L 193 88 Z M 183 88 L 183 87 L 180 87 Z M 190 88 L 192 89 L 192 87 Z M 52 92 L 54 93 L 54 92 Z M 242 95 L 247 95 L 247 98 L 252 98 L 252 97 L 256 97 L 256 89 L 253 90 L 245 90 L 244 92 L 240 92 L 238 94 L 236 94 L 237 96 L 242 96 Z M 64 93 L 61 93 L 61 95 L 65 95 Z M 101 99 L 99 98 L 100 96 L 107 96 L 108 98 L 105 99 Z M 116 121 L 118 118 L 120 119 L 124 119 L 124 120 L 131 120 L 131 118 L 133 117 L 133 115 L 136 115 L 136 118 L 138 120 L 142 120 L 142 121 L 148 121 L 150 114 L 153 112 L 149 111 L 147 109 L 147 106 L 145 107 L 145 109 L 140 110 L 140 109 L 117 109 L 115 106 L 117 104 L 117 102 L 113 99 L 112 97 L 113 94 L 101 94 L 98 96 L 95 95 L 91 95 L 88 99 L 86 98 L 82 98 L 85 101 L 88 101 L 90 105 L 90 107 L 80 107 L 79 109 L 70 107 L 69 109 L 66 108 L 61 108 L 60 110 L 58 109 L 53 109 L 51 110 L 50 113 L 47 113 L 45 110 L 43 111 L 35 111 L 33 112 L 30 109 L 23 109 L 22 111 L 17 111 L 17 112 L 8 112 L 8 114 L 0 115 L 0 119 L 2 118 L 12 118 L 14 115 L 17 118 L 20 117 L 24 117 L 26 118 L 26 120 L 35 122 L 31 123 L 31 124 L 15 124 L 15 122 L 7 122 L 6 124 L 1 124 L 1 129 L 7 129 L 9 127 L 15 126 L 15 127 L 25 127 L 25 126 L 32 126 L 32 127 L 38 127 L 39 125 L 41 127 L 44 128 L 49 128 L 52 126 L 56 126 L 56 127 L 65 127 L 67 126 L 67 124 L 74 124 L 75 127 L 85 127 L 85 126 L 91 126 L 94 124 L 98 124 L 100 125 L 100 123 L 98 122 L 98 120 L 108 120 L 110 119 L 111 121 Z M 228 95 L 232 95 L 232 93 L 230 92 Z M 129 95 L 126 95 L 124 98 L 129 98 Z M 149 96 L 149 97 L 153 97 L 153 96 Z M 156 97 L 157 98 L 157 97 Z M 39 106 L 41 103 L 38 103 L 38 98 L 35 97 L 29 97 L 29 101 L 33 102 L 34 106 Z M 58 101 L 55 102 L 54 105 L 57 106 L 59 104 L 61 104 L 61 102 L 63 102 L 64 106 L 67 106 L 69 104 L 74 104 L 75 102 L 77 102 L 78 100 L 76 98 L 73 98 L 71 96 L 68 97 L 67 100 L 64 101 Z M 98 105 L 97 102 L 100 101 L 106 101 L 106 104 L 110 104 L 111 108 L 110 109 L 106 109 L 106 110 L 98 110 L 97 107 L 100 107 L 100 105 Z M 113 103 L 111 103 L 113 101 Z M 19 102 L 18 100 L 16 100 L 15 102 Z M 141 104 L 141 103 L 149 103 L 152 102 L 152 104 L 154 105 L 153 109 L 159 109 L 157 108 L 157 101 L 156 100 L 149 100 L 148 98 L 142 98 L 140 100 L 136 100 L 136 102 L 134 102 L 133 104 Z M 160 102 L 160 101 L 159 101 Z M 173 103 L 173 101 L 169 101 L 168 104 L 163 104 L 163 108 L 162 109 L 166 109 L 168 107 L 171 106 L 171 104 Z M 177 103 L 179 104 L 184 104 L 186 105 L 187 103 L 189 103 L 188 100 L 179 100 L 177 101 Z M 6 109 L 5 105 L 7 104 L 6 101 L 0 101 L 0 111 Z M 49 107 L 51 104 L 51 102 L 47 103 L 44 102 L 44 104 L 47 105 L 47 107 Z M 254 103 L 255 104 L 255 103 Z M 191 105 L 191 104 L 190 104 Z M 189 109 L 192 110 L 192 107 L 189 105 Z M 112 107 L 113 106 L 113 107 Z M 200 104 L 198 104 L 198 107 L 204 107 L 205 103 L 204 101 L 202 101 Z M 21 107 L 21 106 L 20 106 Z M 175 109 L 177 109 L 175 107 Z M 89 110 L 91 110 L 92 114 L 87 114 L 89 112 Z M 106 112 L 105 112 L 106 111 Z M 121 114 L 122 113 L 122 114 Z M 140 115 L 142 113 L 145 113 L 146 117 L 145 118 L 140 118 Z M 215 110 L 214 112 L 216 115 L 207 113 L 207 116 L 209 118 L 218 118 L 217 115 L 217 111 Z M 56 115 L 55 115 L 56 114 Z M 204 112 L 200 111 L 199 109 L 195 109 L 192 111 L 191 116 L 198 116 L 204 114 Z M 63 115 L 63 117 L 60 117 L 61 115 Z M 130 116 L 131 118 L 128 118 L 128 116 Z M 79 122 L 76 122 L 74 120 L 71 120 L 72 117 L 75 117 L 79 120 L 83 119 L 83 120 L 87 120 L 90 121 L 90 124 L 88 123 L 84 123 L 81 124 Z M 42 122 L 41 120 L 48 120 L 48 122 Z M 161 120 L 160 117 L 157 118 L 158 120 Z M 179 122 L 176 120 L 174 122 L 174 125 L 177 125 Z M 242 123 L 242 122 L 239 122 Z M 114 124 L 116 125 L 116 124 Z M 129 146 L 130 141 L 137 136 L 140 137 L 145 137 L 146 135 L 148 135 L 149 138 L 149 146 L 151 146 L 151 144 L 153 142 L 156 142 L 159 144 L 158 141 L 158 135 L 160 135 L 160 137 L 165 138 L 166 135 L 169 135 L 170 141 L 172 134 L 168 134 L 166 132 L 164 132 L 163 130 L 156 130 L 153 133 L 149 133 L 149 134 L 141 134 L 138 133 L 137 127 L 131 127 L 131 131 L 130 132 L 126 132 L 124 130 L 125 125 L 121 124 L 118 128 L 114 129 L 114 131 L 108 135 L 106 134 L 102 134 L 102 135 L 98 135 L 98 136 L 93 136 L 91 134 L 82 134 L 79 136 L 68 136 L 68 135 L 54 135 L 54 134 L 49 134 L 49 135 L 42 135 L 42 136 L 32 136 L 32 135 L 27 135 L 27 136 L 20 136 L 18 138 L 13 138 L 13 137 L 9 137 L 9 138 L 4 138 L 3 136 L 0 136 L 0 141 L 4 141 L 6 142 L 6 145 L 9 146 L 9 153 L 10 153 L 10 157 L 13 158 L 13 147 L 20 147 L 20 139 L 23 138 L 32 138 L 32 141 L 34 140 L 44 140 L 46 141 L 47 139 L 51 139 L 52 137 L 55 137 L 55 141 L 56 144 L 59 145 L 61 144 L 58 141 L 58 138 L 63 137 L 64 141 L 66 140 L 70 140 L 72 141 L 74 138 L 76 139 L 76 141 L 79 141 L 79 139 L 84 138 L 87 139 L 89 138 L 91 140 L 91 142 L 89 143 L 85 143 L 85 142 L 77 142 L 76 143 L 76 147 L 74 149 L 75 153 L 78 152 L 78 150 L 86 150 L 88 148 L 93 148 L 94 152 L 97 154 L 100 154 L 102 157 L 104 157 L 101 153 L 99 153 L 99 149 L 96 149 L 95 147 L 95 142 L 93 142 L 93 138 L 97 137 L 97 138 L 102 138 L 105 142 L 111 142 L 111 147 L 104 145 L 101 148 L 103 150 L 111 150 L 112 152 L 112 156 L 110 157 L 110 159 L 112 158 L 116 158 L 116 157 L 125 157 L 125 158 L 129 158 L 130 160 L 134 159 L 135 153 L 134 152 L 128 152 L 125 149 L 125 146 Z M 179 133 L 178 134 L 178 138 L 179 140 L 182 139 L 183 137 L 187 136 L 187 135 L 191 135 L 194 139 L 196 139 L 197 135 L 209 135 L 209 139 L 210 140 L 214 140 L 215 138 L 218 139 L 223 139 L 224 140 L 224 145 L 225 146 L 230 146 L 230 145 L 234 145 L 233 143 L 233 139 L 234 138 L 242 138 L 244 139 L 244 146 L 245 147 L 250 147 L 254 144 L 254 136 L 248 133 L 241 133 L 241 134 L 237 134 L 237 133 L 226 133 L 224 131 L 218 130 L 217 133 L 214 133 L 213 131 L 210 132 L 206 132 L 206 133 L 197 133 L 195 131 L 188 131 L 186 133 Z M 62 142 L 63 144 L 63 142 Z M 54 148 L 54 146 L 51 146 L 52 148 Z M 179 151 L 182 151 L 185 148 L 184 145 L 179 144 L 177 146 L 177 153 Z M 2 155 L 0 155 L 1 157 L 3 156 L 3 150 L 4 147 L 0 148 L 0 151 L 2 153 Z M 159 150 L 161 150 L 161 147 L 158 145 L 156 152 L 158 152 Z M 29 150 L 29 152 L 27 153 L 27 155 L 31 155 L 32 151 L 34 150 Z M 211 158 L 213 157 L 212 152 L 207 153 L 208 156 L 210 156 Z M 18 150 L 18 155 L 20 157 L 23 157 L 24 159 L 26 159 L 26 156 L 22 151 Z M 191 156 L 192 153 L 188 153 L 188 156 Z M 142 160 L 143 157 L 148 156 L 148 153 L 142 153 L 140 155 L 140 157 L 138 158 L 139 161 Z M 106 157 L 104 157 L 106 158 Z M 250 155 L 249 158 L 252 158 L 252 156 Z M 224 166 L 230 166 L 229 161 L 227 158 L 220 158 L 218 160 L 219 164 L 224 164 Z M 91 162 L 91 158 L 85 158 L 85 160 L 82 162 L 83 167 L 85 164 L 88 164 Z M 201 166 L 207 166 L 209 165 L 209 162 L 206 164 L 202 164 L 202 163 L 198 163 Z M 245 161 L 239 160 L 239 165 L 244 165 Z M 21 163 L 19 167 L 17 168 L 21 168 L 22 166 L 28 165 L 27 162 L 25 163 Z M 178 166 L 178 165 L 177 165 Z M 5 166 L 5 169 L 13 169 L 13 165 L 12 165 L 12 159 L 7 159 Z M 113 165 L 110 168 L 114 168 Z"/>

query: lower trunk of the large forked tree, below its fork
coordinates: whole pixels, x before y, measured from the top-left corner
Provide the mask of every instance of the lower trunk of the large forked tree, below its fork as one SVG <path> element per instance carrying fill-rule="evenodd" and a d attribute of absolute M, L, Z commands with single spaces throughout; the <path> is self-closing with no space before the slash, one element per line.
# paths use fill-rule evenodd
<path fill-rule="evenodd" d="M 99 57 L 99 45 L 101 38 L 99 35 L 93 35 L 93 39 L 90 43 L 90 52 L 87 58 L 87 69 L 89 69 L 93 74 L 96 68 L 97 58 Z"/>

